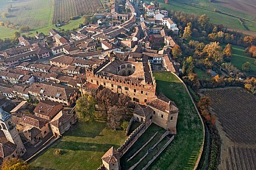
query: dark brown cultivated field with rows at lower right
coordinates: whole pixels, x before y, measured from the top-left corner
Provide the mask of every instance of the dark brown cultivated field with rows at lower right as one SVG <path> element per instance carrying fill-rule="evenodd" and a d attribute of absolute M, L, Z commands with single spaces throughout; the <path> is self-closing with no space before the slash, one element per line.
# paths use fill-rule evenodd
<path fill-rule="evenodd" d="M 222 140 L 219 169 L 255 169 L 256 96 L 242 88 L 202 90 L 212 100 L 211 112 Z"/>

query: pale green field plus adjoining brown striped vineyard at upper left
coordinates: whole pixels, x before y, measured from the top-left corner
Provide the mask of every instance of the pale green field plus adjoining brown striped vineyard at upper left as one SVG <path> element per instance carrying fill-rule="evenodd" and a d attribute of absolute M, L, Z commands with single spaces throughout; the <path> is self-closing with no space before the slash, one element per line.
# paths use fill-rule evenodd
<path fill-rule="evenodd" d="M 10 6 L 12 7 L 8 10 Z M 22 25 L 30 27 L 30 32 L 25 35 L 34 36 L 36 31 L 48 34 L 50 28 L 56 28 L 53 24 L 58 20 L 65 22 L 61 29 L 72 30 L 82 23 L 78 16 L 102 8 L 100 0 L 0 0 L 0 12 L 8 12 L 7 17 L 0 16 L 0 21 L 10 23 L 9 27 L 0 26 L 0 38 L 12 38 L 13 33 Z"/>

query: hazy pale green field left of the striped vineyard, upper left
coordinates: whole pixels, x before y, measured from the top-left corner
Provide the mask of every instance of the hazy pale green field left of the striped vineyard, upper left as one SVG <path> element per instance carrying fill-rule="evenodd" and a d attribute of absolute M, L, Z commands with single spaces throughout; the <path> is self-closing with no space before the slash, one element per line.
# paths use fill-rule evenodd
<path fill-rule="evenodd" d="M 15 25 L 29 26 L 31 31 L 24 33 L 26 36 L 34 36 L 36 31 L 43 32 L 49 35 L 50 28 L 60 30 L 73 30 L 78 28 L 82 23 L 82 18 L 78 20 L 69 21 L 67 25 L 62 27 L 55 27 L 51 24 L 53 14 L 53 0 L 26 0 L 26 1 L 6 1 L 0 0 L 0 13 L 7 12 L 7 8 L 12 4 L 12 9 L 9 12 L 11 17 L 1 18 L 0 21 L 10 22 Z M 13 33 L 18 31 L 14 28 L 0 26 L 0 38 L 12 38 Z"/>

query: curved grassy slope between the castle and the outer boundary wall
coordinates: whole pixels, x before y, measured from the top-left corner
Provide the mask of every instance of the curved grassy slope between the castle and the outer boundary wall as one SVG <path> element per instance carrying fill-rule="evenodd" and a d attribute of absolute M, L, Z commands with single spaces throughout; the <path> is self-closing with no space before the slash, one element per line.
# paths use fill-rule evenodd
<path fill-rule="evenodd" d="M 201 120 L 181 82 L 170 72 L 154 72 L 157 92 L 179 108 L 177 135 L 148 169 L 193 169 L 203 142 Z"/>

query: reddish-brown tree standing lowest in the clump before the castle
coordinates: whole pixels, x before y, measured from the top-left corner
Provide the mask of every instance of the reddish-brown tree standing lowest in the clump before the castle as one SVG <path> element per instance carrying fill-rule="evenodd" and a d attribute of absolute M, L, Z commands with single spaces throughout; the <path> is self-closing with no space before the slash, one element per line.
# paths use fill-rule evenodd
<path fill-rule="evenodd" d="M 118 106 L 113 106 L 108 111 L 108 127 L 117 129 L 120 126 L 120 120 L 122 119 L 122 109 Z"/>

